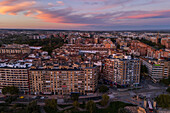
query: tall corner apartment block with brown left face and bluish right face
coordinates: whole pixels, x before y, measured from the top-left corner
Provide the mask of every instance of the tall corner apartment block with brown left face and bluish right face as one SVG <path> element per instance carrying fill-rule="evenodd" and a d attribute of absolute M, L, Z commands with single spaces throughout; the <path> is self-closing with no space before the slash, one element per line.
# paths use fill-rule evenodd
<path fill-rule="evenodd" d="M 113 54 L 105 60 L 104 79 L 112 85 L 135 85 L 140 82 L 140 60 Z"/>

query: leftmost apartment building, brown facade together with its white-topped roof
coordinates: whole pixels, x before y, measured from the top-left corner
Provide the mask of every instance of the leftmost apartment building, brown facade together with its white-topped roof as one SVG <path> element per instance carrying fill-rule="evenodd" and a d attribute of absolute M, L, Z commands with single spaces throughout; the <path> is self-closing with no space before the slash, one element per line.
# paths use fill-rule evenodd
<path fill-rule="evenodd" d="M 20 92 L 29 94 L 29 72 L 27 61 L 0 61 L 0 93 L 3 87 L 15 86 Z"/>

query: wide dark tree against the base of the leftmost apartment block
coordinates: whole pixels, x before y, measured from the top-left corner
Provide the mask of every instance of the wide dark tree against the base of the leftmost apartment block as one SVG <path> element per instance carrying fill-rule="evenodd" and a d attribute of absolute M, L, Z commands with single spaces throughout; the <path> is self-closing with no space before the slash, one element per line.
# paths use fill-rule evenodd
<path fill-rule="evenodd" d="M 18 93 L 19 93 L 19 89 L 15 86 L 7 86 L 7 87 L 2 88 L 3 95 L 6 95 L 6 94 L 14 95 Z"/>

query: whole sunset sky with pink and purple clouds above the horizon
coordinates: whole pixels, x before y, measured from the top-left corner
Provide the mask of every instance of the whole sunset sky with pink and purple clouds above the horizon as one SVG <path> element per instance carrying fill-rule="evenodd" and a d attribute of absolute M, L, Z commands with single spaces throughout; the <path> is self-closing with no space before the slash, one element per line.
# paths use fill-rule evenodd
<path fill-rule="evenodd" d="M 0 0 L 0 28 L 170 29 L 170 0 Z"/>

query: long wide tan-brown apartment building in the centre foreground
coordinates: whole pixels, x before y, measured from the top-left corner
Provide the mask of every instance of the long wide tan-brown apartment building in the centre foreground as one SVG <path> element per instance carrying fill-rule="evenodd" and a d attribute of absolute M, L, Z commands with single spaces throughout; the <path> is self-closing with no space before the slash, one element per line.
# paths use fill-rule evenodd
<path fill-rule="evenodd" d="M 98 82 L 98 68 L 46 68 L 30 69 L 31 94 L 64 95 L 80 93 L 81 95 L 94 93 Z"/>

